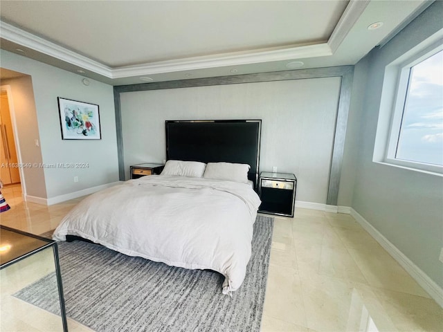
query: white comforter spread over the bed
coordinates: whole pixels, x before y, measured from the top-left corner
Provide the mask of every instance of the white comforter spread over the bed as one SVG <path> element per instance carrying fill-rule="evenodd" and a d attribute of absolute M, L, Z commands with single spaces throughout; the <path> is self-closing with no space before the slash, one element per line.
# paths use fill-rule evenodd
<path fill-rule="evenodd" d="M 251 257 L 260 199 L 231 181 L 144 176 L 96 192 L 67 214 L 53 234 L 100 243 L 125 255 L 224 275 L 237 290 Z"/>

